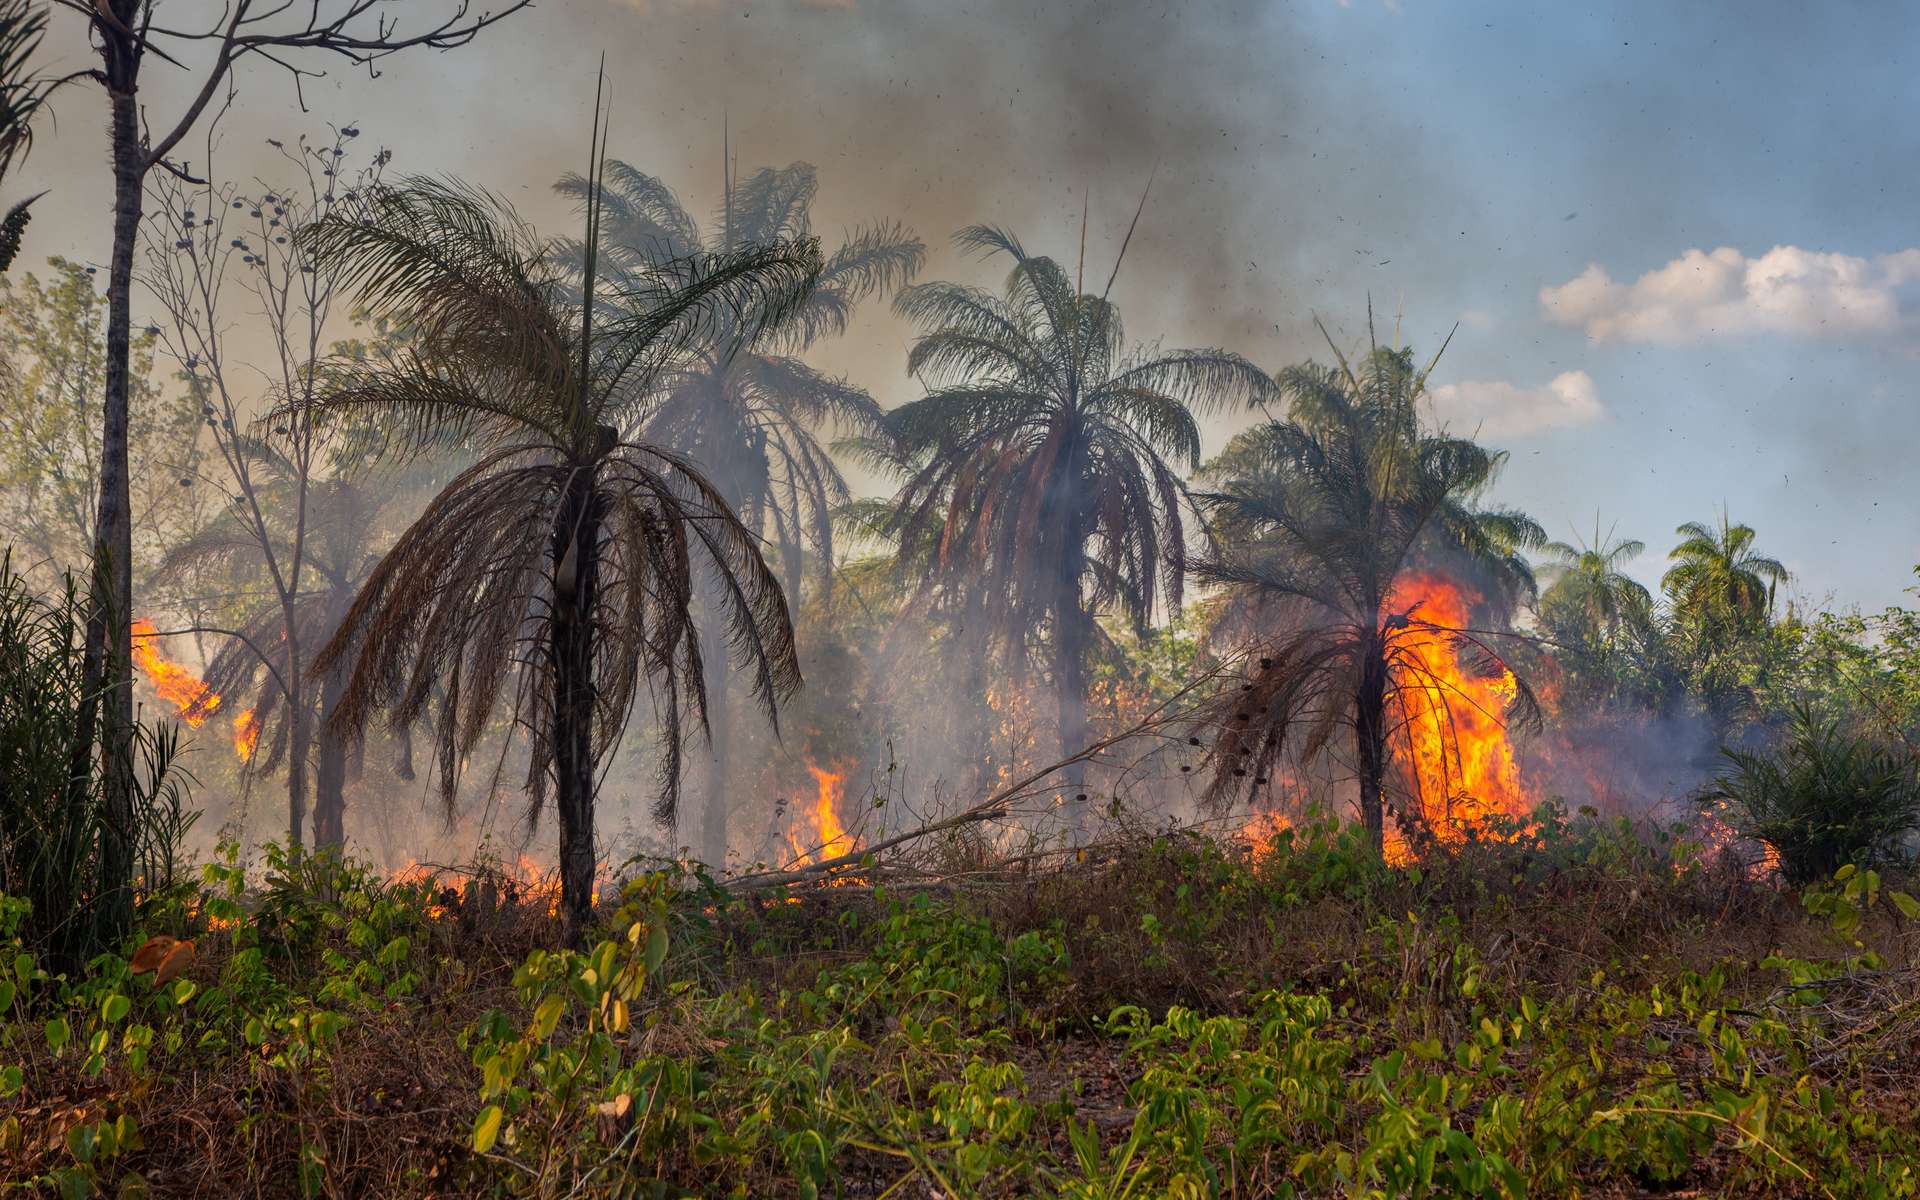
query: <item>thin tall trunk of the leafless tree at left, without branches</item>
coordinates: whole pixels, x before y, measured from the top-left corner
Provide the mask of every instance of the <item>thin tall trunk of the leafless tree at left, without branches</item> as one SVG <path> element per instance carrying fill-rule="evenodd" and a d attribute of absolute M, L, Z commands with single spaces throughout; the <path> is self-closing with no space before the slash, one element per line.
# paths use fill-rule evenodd
<path fill-rule="evenodd" d="M 98 920 L 106 935 L 132 922 L 132 507 L 127 488 L 127 390 L 132 349 L 132 252 L 140 238 L 146 175 L 132 94 L 131 48 L 102 46 L 113 146 L 113 257 L 108 267 L 108 378 L 100 447 L 100 507 L 94 520 L 92 586 L 81 672 L 86 701 L 73 745 L 75 789 L 92 770 L 94 705 L 100 722 L 104 820 L 100 828 Z M 121 79 L 127 75 L 129 79 Z"/>

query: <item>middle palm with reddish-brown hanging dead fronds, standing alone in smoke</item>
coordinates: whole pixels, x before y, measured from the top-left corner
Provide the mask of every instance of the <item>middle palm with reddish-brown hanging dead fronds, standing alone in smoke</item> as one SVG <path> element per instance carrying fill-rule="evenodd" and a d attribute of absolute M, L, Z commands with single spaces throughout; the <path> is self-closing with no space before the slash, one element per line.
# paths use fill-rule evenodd
<path fill-rule="evenodd" d="M 1254 403 L 1273 380 L 1223 349 L 1129 348 L 1104 294 L 1010 232 L 975 225 L 954 240 L 1014 267 L 1002 296 L 933 282 L 895 300 L 924 330 L 906 369 L 931 390 L 887 415 L 906 482 L 881 532 L 927 549 L 900 559 L 916 603 L 970 630 L 973 653 L 1052 676 L 1071 755 L 1087 741 L 1096 616 L 1144 626 L 1156 603 L 1179 609 L 1175 465 L 1200 461 L 1190 405 Z"/>

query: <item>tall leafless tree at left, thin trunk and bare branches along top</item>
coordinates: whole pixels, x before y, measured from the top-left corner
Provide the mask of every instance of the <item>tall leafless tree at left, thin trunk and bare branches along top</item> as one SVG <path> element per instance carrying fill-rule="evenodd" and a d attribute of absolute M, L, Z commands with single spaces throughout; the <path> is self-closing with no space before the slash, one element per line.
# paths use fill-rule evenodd
<path fill-rule="evenodd" d="M 50 86 L 94 83 L 108 94 L 108 148 L 113 169 L 113 253 L 108 275 L 108 386 L 102 422 L 100 516 L 96 520 L 94 566 L 86 614 L 84 676 L 88 697 L 106 687 L 106 722 L 100 730 L 102 770 L 106 772 L 108 837 L 104 877 L 115 887 L 109 904 L 117 920 L 132 912 L 125 879 L 132 858 L 127 845 L 127 818 L 132 785 L 132 520 L 127 480 L 127 384 L 132 340 L 134 248 L 148 177 L 163 169 L 182 180 L 202 184 L 171 156 L 194 132 L 209 109 L 232 102 L 234 69 L 259 61 L 282 67 L 296 96 L 324 65 L 367 67 L 413 48 L 449 50 L 465 46 L 482 29 L 528 8 L 532 0 L 501 0 L 499 12 L 476 12 L 470 0 L 426 4 L 413 0 L 409 12 L 432 10 L 430 25 L 407 31 L 390 13 L 386 0 L 227 0 L 217 21 L 205 27 L 173 27 L 159 21 L 159 0 L 54 0 L 86 23 L 100 65 L 48 81 Z M 194 73 L 198 86 L 184 106 L 167 119 L 142 111 L 138 90 L 148 58 Z M 186 65 L 194 61 L 194 65 Z M 94 701 L 81 714 L 75 743 L 75 778 L 88 774 L 92 755 Z M 121 883 L 111 883 L 121 881 Z"/>

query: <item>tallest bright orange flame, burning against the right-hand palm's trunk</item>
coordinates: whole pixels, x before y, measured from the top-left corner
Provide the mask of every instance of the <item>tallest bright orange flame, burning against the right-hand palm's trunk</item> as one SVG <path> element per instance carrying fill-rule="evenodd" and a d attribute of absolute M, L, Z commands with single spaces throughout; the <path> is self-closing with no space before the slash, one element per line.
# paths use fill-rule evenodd
<path fill-rule="evenodd" d="M 1513 701 L 1513 674 L 1476 672 L 1461 660 L 1448 630 L 1465 630 L 1471 591 L 1450 580 L 1411 572 L 1394 586 L 1390 609 L 1411 605 L 1407 616 L 1428 622 L 1398 636 L 1411 659 L 1398 672 L 1400 745 L 1407 751 L 1411 781 L 1427 826 L 1442 843 L 1465 841 L 1482 831 L 1490 816 L 1524 818 L 1532 801 L 1521 785 L 1521 768 L 1507 739 L 1505 710 Z M 1405 837 L 1388 822 L 1388 862 L 1405 862 Z"/>

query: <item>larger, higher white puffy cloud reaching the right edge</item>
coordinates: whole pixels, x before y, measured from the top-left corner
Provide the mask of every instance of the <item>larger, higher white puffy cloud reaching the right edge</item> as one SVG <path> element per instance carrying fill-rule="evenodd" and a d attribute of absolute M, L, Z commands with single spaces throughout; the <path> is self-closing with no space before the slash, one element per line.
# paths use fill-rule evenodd
<path fill-rule="evenodd" d="M 1920 250 L 1874 257 L 1774 246 L 1747 257 L 1732 246 L 1688 250 L 1630 284 L 1599 263 L 1540 290 L 1548 319 L 1597 342 L 1692 342 L 1720 334 L 1864 338 L 1907 328 Z"/>

